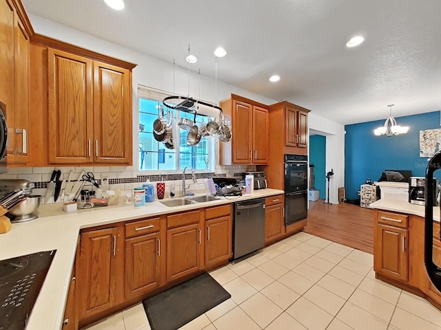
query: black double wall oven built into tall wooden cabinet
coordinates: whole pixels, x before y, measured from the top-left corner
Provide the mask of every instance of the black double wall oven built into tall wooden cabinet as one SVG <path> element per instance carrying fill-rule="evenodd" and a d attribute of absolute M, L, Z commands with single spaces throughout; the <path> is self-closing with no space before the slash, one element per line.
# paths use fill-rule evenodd
<path fill-rule="evenodd" d="M 308 156 L 285 155 L 285 225 L 308 215 Z"/>

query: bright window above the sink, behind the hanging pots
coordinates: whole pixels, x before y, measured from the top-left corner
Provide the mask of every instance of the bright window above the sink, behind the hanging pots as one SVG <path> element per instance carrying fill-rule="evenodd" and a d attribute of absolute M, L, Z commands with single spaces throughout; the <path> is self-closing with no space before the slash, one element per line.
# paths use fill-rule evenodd
<path fill-rule="evenodd" d="M 170 96 L 163 91 L 138 87 L 139 97 L 139 170 L 182 170 L 192 166 L 195 170 L 213 170 L 214 138 L 202 137 L 196 146 L 187 145 L 187 131 L 179 129 L 178 143 L 174 149 L 166 148 L 163 142 L 158 142 L 153 136 L 153 122 L 160 114 L 160 105 L 165 97 Z M 194 119 L 194 115 L 183 111 L 170 111 L 176 122 L 182 117 Z M 167 111 L 167 107 L 164 107 Z M 165 118 L 167 114 L 165 113 Z M 203 115 L 196 115 L 196 124 L 207 122 Z"/>

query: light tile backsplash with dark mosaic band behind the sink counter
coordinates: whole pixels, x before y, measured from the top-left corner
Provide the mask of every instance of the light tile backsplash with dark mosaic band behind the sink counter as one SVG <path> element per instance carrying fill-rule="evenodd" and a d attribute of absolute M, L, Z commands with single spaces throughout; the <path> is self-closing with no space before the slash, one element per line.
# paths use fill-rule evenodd
<path fill-rule="evenodd" d="M 72 181 L 79 178 L 81 170 L 94 173 L 94 177 L 99 184 L 103 177 L 109 178 L 109 189 L 121 189 L 121 195 L 132 193 L 135 187 L 141 186 L 145 181 L 150 180 L 154 186 L 161 178 L 165 181 L 165 198 L 170 196 L 170 186 L 174 184 L 176 195 L 179 196 L 182 190 L 182 173 L 173 174 L 152 174 L 145 175 L 144 173 L 134 169 L 134 166 L 65 166 L 65 167 L 25 167 L 25 168 L 9 168 L 8 173 L 0 174 L 0 179 L 26 179 L 34 183 L 34 195 L 45 195 L 47 184 L 50 181 L 52 172 L 57 169 L 61 170 L 61 180 L 68 179 L 69 173 L 72 170 Z M 225 177 L 241 177 L 245 170 L 256 170 L 256 166 L 220 166 L 216 165 L 216 170 L 212 173 L 196 173 L 197 183 L 187 181 L 190 184 L 189 190 L 194 192 L 201 192 L 205 190 L 205 179 L 213 176 Z M 185 173 L 185 179 L 192 179 L 191 173 Z M 86 184 L 84 189 L 94 190 L 92 184 Z M 156 191 L 155 191 L 156 194 Z"/>

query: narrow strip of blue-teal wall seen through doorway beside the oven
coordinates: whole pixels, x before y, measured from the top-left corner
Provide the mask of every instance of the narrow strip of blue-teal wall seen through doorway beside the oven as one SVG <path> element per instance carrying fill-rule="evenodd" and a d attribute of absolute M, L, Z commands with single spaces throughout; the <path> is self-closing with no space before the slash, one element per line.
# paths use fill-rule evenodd
<path fill-rule="evenodd" d="M 326 137 L 309 135 L 309 164 L 314 165 L 314 188 L 320 190 L 320 199 L 326 198 Z"/>

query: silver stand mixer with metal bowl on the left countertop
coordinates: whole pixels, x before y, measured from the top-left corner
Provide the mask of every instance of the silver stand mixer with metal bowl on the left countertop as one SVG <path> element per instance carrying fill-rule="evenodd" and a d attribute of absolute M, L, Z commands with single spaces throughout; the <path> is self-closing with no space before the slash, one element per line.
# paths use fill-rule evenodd
<path fill-rule="evenodd" d="M 37 219 L 34 212 L 39 208 L 41 195 L 31 195 L 34 184 L 23 179 L 0 180 L 0 207 L 8 210 L 11 222 Z"/>

